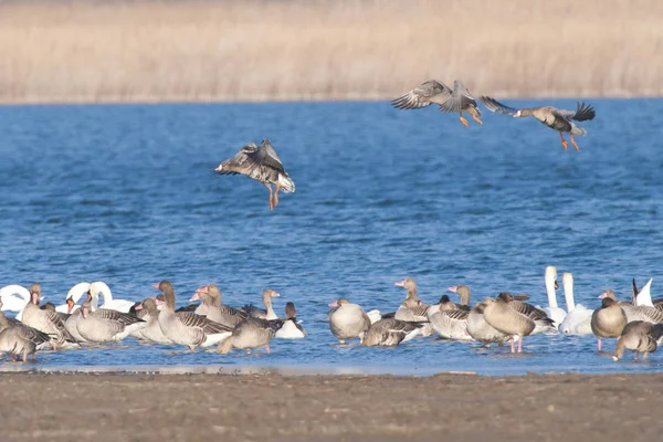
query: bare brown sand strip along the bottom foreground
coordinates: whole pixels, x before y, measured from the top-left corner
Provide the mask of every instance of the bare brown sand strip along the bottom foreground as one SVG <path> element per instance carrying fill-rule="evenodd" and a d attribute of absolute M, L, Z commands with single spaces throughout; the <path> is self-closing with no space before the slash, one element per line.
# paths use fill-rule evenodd
<path fill-rule="evenodd" d="M 0 391 L 10 441 L 633 442 L 663 430 L 663 373 L 2 373 Z"/>

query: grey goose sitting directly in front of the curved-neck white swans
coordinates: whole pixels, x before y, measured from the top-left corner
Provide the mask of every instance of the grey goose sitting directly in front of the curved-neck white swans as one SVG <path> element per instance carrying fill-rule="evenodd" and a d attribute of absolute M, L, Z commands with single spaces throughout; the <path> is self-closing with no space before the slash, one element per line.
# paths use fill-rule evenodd
<path fill-rule="evenodd" d="M 94 293 L 94 292 L 93 292 Z M 96 308 L 97 294 L 81 305 L 81 314 L 76 315 L 76 328 L 81 336 L 91 343 L 116 343 L 140 328 L 147 323 L 128 313 Z"/>

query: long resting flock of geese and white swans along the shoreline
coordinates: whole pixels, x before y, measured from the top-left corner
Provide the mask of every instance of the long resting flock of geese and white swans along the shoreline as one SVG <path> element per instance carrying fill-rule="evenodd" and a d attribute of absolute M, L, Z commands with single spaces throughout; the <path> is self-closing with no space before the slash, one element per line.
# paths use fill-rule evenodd
<path fill-rule="evenodd" d="M 449 287 L 457 302 L 442 295 L 438 303 L 427 304 L 420 297 L 414 280 L 407 277 L 396 283 L 404 290 L 404 299 L 396 312 L 379 309 L 366 312 L 348 297 L 340 297 L 328 306 L 329 330 L 339 344 L 359 339 L 361 346 L 397 346 L 418 337 L 435 335 L 442 339 L 477 343 L 482 346 L 511 344 L 512 352 L 522 352 L 525 338 L 534 334 L 594 335 L 598 350 L 602 340 L 617 338 L 613 359 L 624 350 L 642 354 L 656 350 L 663 339 L 663 298 L 652 299 L 650 280 L 642 290 L 633 281 L 630 301 L 618 301 L 612 290 L 598 298 L 600 305 L 588 308 L 573 301 L 573 277 L 565 273 L 562 285 L 565 311 L 557 304 L 557 269 L 545 271 L 547 306 L 528 303 L 527 294 L 502 292 L 472 305 L 471 288 L 460 284 Z M 86 288 L 85 299 L 81 287 Z M 263 308 L 252 304 L 234 308 L 221 303 L 221 291 L 215 284 L 198 287 L 189 302 L 176 307 L 176 294 L 169 281 L 155 284 L 160 293 L 143 302 L 113 299 L 108 286 L 102 282 L 80 283 L 70 290 L 64 304 L 41 305 L 42 287 L 29 288 L 8 285 L 0 290 L 0 307 L 15 311 L 14 318 L 0 313 L 0 352 L 14 360 L 35 359 L 44 348 L 53 350 L 82 349 L 91 344 L 105 344 L 134 337 L 155 345 L 178 345 L 190 350 L 217 347 L 220 354 L 232 349 L 264 347 L 270 352 L 273 338 L 298 339 L 307 336 L 297 319 L 295 305 L 285 305 L 285 316 L 278 317 L 273 299 L 281 295 L 271 288 L 262 294 Z M 105 296 L 99 306 L 99 295 Z M 73 301 L 73 299 L 76 301 Z M 123 312 L 127 305 L 126 312 Z M 65 306 L 67 313 L 60 312 Z M 517 345 L 516 345 L 517 344 Z"/>

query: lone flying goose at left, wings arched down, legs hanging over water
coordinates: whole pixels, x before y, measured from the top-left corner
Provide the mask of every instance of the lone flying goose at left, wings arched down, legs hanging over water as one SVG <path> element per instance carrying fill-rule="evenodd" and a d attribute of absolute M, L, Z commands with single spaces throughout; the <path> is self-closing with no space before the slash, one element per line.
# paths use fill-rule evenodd
<path fill-rule="evenodd" d="M 234 157 L 221 162 L 214 171 L 221 175 L 241 173 L 262 182 L 270 190 L 270 210 L 278 206 L 281 190 L 286 193 L 295 191 L 295 182 L 283 168 L 283 162 L 269 139 L 263 139 L 260 146 L 248 144 Z M 272 185 L 276 186 L 274 191 Z"/>

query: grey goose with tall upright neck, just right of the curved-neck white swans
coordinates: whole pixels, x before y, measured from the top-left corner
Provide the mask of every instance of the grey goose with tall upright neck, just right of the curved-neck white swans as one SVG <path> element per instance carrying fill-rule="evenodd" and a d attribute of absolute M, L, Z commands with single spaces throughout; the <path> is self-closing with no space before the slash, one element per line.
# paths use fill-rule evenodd
<path fill-rule="evenodd" d="M 159 313 L 159 325 L 164 335 L 175 344 L 196 347 L 209 347 L 228 338 L 232 328 L 214 323 L 204 316 L 191 312 L 175 312 L 175 290 L 169 281 L 152 285 L 160 290 L 166 299 L 164 309 Z"/>

